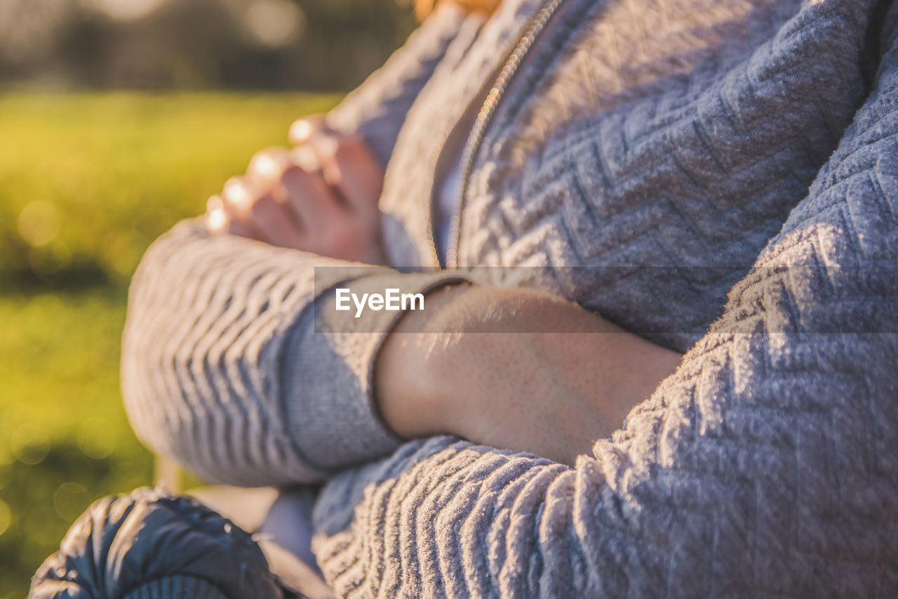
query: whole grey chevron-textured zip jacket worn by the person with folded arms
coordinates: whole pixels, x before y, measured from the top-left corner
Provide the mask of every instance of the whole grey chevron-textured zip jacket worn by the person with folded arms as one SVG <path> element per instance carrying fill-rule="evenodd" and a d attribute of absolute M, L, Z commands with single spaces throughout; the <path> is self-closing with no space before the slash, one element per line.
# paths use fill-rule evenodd
<path fill-rule="evenodd" d="M 898 45 L 883 6 L 565 0 L 536 37 L 472 154 L 458 263 L 537 267 L 515 284 L 686 351 L 575 469 L 401 444 L 370 397 L 392 317 L 325 332 L 314 308 L 339 281 L 316 285 L 313 266 L 338 262 L 194 222 L 132 288 L 137 433 L 207 478 L 330 478 L 314 550 L 340 595 L 898 593 Z M 332 115 L 390 156 L 394 265 L 433 264 L 440 149 L 540 7 L 511 0 L 485 24 L 441 11 Z M 357 276 L 426 290 L 453 274 Z"/>

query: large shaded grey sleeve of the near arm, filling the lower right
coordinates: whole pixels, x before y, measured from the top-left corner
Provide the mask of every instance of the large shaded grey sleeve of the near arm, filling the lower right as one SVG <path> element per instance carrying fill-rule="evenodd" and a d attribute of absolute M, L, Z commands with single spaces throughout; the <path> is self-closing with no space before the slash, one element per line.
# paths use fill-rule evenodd
<path fill-rule="evenodd" d="M 574 469 L 442 437 L 332 479 L 339 595 L 898 592 L 898 53 L 726 311 Z"/>

